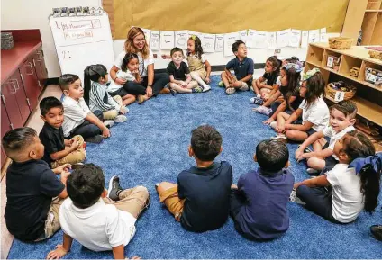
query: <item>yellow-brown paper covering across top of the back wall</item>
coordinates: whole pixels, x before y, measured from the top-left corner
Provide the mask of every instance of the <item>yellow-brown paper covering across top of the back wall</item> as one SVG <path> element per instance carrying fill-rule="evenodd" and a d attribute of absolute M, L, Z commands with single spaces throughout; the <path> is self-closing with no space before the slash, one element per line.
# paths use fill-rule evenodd
<path fill-rule="evenodd" d="M 114 39 L 131 26 L 228 33 L 327 28 L 341 32 L 349 0 L 103 0 Z"/>

